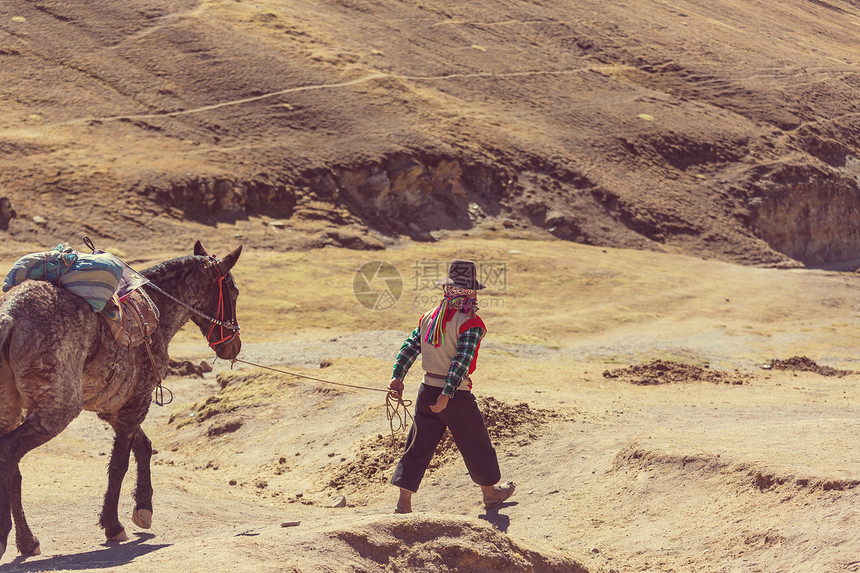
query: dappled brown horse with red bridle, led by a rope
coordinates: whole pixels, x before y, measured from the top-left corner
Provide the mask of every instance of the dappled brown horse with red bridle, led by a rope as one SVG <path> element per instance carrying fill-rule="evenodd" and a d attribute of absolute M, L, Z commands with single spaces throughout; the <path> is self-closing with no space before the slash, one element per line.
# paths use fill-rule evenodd
<path fill-rule="evenodd" d="M 151 525 L 152 445 L 140 425 L 166 373 L 167 345 L 189 319 L 220 358 L 238 355 L 238 290 L 230 270 L 241 250 L 217 259 L 198 241 L 194 255 L 140 273 L 149 279 L 143 288 L 161 315 L 151 336 L 151 357 L 145 344 L 129 349 L 118 343 L 84 299 L 48 282 L 26 281 L 0 299 L 0 556 L 12 518 L 18 551 L 40 553 L 21 505 L 18 462 L 62 432 L 81 410 L 97 412 L 115 432 L 99 517 L 108 540 L 128 539 L 117 511 L 132 452 L 137 464 L 132 520 L 144 529 Z M 225 327 L 232 335 L 224 335 Z"/>

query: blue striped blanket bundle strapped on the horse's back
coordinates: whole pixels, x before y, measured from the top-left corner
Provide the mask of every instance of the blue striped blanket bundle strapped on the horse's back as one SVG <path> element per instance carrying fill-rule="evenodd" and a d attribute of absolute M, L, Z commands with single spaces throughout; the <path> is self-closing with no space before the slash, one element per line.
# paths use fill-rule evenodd
<path fill-rule="evenodd" d="M 110 253 L 87 255 L 57 245 L 18 259 L 3 281 L 3 292 L 26 280 L 48 281 L 86 300 L 100 312 L 117 291 L 124 265 Z"/>

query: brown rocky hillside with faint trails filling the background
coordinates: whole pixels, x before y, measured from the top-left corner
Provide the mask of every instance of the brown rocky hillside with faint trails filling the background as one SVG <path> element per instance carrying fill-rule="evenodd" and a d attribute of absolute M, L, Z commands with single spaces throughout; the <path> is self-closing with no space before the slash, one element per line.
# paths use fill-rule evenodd
<path fill-rule="evenodd" d="M 7 0 L 0 228 L 850 265 L 858 26 L 854 0 Z"/>

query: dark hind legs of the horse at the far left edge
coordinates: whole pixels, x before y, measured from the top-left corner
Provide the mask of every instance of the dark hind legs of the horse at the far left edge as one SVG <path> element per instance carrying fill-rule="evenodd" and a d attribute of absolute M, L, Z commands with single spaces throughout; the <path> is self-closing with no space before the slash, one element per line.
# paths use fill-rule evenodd
<path fill-rule="evenodd" d="M 0 437 L 0 556 L 6 552 L 13 514 L 18 551 L 22 555 L 39 553 L 39 540 L 30 531 L 24 517 L 18 462 L 24 454 L 62 432 L 79 413 L 79 407 L 51 411 L 50 424 L 45 424 L 39 413 L 32 413 L 20 426 Z"/>

